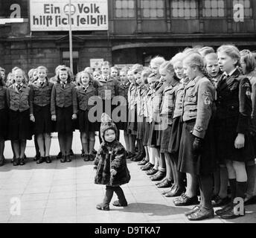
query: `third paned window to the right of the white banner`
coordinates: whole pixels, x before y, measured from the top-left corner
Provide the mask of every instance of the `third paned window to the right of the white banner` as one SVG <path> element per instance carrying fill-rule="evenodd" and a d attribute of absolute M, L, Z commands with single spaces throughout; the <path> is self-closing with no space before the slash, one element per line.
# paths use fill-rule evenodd
<path fill-rule="evenodd" d="M 171 1 L 171 16 L 173 18 L 193 19 L 198 16 L 196 0 Z"/>

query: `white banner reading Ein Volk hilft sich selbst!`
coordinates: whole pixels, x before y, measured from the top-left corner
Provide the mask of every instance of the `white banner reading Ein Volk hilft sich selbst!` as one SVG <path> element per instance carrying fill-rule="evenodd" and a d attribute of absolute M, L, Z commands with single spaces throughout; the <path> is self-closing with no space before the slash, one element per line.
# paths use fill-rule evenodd
<path fill-rule="evenodd" d="M 32 31 L 69 30 L 69 0 L 30 0 Z M 107 0 L 71 0 L 72 30 L 108 30 Z"/>

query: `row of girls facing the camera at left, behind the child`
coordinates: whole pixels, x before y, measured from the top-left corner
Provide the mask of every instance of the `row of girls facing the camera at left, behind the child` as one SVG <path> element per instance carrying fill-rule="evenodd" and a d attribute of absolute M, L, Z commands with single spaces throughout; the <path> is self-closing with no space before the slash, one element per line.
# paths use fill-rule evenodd
<path fill-rule="evenodd" d="M 128 91 L 126 77 L 117 77 L 118 69 L 110 68 L 104 62 L 100 70 L 85 68 L 76 77 L 70 68 L 59 65 L 55 76 L 48 80 L 48 70 L 44 66 L 32 68 L 25 72 L 18 67 L 13 68 L 5 80 L 4 68 L 0 68 L 1 89 L 1 125 L 0 125 L 0 165 L 4 165 L 4 141 L 10 140 L 13 149 L 14 166 L 25 164 L 26 141 L 34 135 L 37 164 L 51 163 L 51 132 L 58 132 L 60 162 L 70 162 L 74 129 L 80 130 L 80 140 L 84 161 L 95 158 L 95 132 L 100 129 L 100 116 L 105 106 L 110 105 L 111 114 L 114 108 L 112 98 L 121 95 L 125 99 Z M 106 93 L 106 88 L 110 89 Z M 89 99 L 97 96 L 96 115 L 89 116 L 89 110 L 95 105 Z M 106 102 L 105 102 L 106 101 Z M 126 103 L 127 100 L 124 100 Z M 102 105 L 102 106 L 101 106 Z M 126 109 L 126 107 L 125 107 Z M 96 117 L 96 118 L 95 118 Z M 124 129 L 127 123 L 118 123 Z"/>

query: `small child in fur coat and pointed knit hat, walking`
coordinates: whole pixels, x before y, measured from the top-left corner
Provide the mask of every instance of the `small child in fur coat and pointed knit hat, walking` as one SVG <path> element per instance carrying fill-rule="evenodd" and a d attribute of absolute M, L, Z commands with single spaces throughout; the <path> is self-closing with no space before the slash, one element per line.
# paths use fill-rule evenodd
<path fill-rule="evenodd" d="M 122 184 L 127 184 L 130 180 L 129 170 L 127 168 L 127 152 L 123 145 L 117 140 L 118 129 L 109 115 L 103 113 L 101 116 L 100 136 L 102 143 L 97 152 L 94 165 L 96 176 L 95 184 L 106 185 L 106 194 L 103 202 L 98 204 L 98 210 L 109 210 L 113 193 L 118 196 L 118 200 L 113 202 L 116 207 L 127 207 L 127 199 Z"/>

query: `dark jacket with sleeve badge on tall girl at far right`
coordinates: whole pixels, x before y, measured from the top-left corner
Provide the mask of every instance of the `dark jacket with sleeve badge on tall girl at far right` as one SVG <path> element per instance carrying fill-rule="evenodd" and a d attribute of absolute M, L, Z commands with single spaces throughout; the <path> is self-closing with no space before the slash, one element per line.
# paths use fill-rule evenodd
<path fill-rule="evenodd" d="M 247 77 L 240 77 L 238 69 L 217 85 L 217 120 L 228 124 L 236 122 L 237 133 L 245 134 L 249 129 L 252 115 L 251 83 Z"/>

